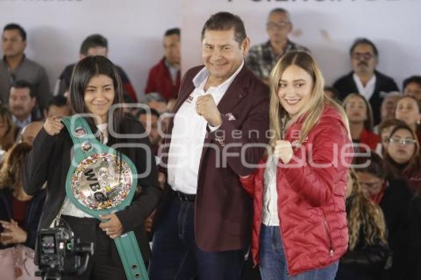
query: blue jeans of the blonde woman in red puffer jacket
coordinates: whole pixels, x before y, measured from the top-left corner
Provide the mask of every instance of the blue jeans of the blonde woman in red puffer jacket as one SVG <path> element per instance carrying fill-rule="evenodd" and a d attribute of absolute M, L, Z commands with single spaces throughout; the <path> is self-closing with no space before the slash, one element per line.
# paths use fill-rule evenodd
<path fill-rule="evenodd" d="M 325 268 L 290 276 L 279 227 L 268 227 L 263 224 L 260 232 L 259 258 L 262 280 L 334 280 L 338 270 L 338 262 L 335 262 Z"/>

